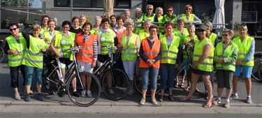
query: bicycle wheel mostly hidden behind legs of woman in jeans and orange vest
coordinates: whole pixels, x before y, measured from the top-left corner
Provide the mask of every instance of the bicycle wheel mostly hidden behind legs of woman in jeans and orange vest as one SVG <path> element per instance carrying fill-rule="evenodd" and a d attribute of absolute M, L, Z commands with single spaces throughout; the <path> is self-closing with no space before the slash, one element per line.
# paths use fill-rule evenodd
<path fill-rule="evenodd" d="M 142 84 L 142 78 L 140 78 L 140 76 L 136 76 L 136 78 L 133 80 L 134 81 L 134 86 L 136 88 L 136 90 L 142 94 L 142 89 L 141 89 L 141 84 Z M 161 84 L 161 79 L 160 79 L 160 75 L 157 76 L 157 91 L 156 94 L 159 94 L 160 92 L 160 84 Z M 151 81 L 148 81 L 147 84 L 147 93 L 146 96 L 151 96 Z"/>

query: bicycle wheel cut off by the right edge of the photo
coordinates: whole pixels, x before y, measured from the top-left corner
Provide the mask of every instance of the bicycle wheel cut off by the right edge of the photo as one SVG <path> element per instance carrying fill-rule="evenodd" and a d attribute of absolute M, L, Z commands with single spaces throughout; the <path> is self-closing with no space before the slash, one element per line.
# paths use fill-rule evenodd
<path fill-rule="evenodd" d="M 262 57 L 254 61 L 252 77 L 257 82 L 262 82 Z"/>

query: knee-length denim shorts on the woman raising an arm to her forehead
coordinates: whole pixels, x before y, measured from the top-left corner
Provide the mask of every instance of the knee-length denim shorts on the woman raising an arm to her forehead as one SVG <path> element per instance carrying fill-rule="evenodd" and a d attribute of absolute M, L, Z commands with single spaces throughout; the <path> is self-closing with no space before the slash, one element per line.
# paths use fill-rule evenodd
<path fill-rule="evenodd" d="M 30 85 L 32 83 L 32 78 L 34 73 L 36 74 L 36 84 L 42 84 L 42 68 L 36 68 L 31 66 L 24 66 L 26 85 Z"/>

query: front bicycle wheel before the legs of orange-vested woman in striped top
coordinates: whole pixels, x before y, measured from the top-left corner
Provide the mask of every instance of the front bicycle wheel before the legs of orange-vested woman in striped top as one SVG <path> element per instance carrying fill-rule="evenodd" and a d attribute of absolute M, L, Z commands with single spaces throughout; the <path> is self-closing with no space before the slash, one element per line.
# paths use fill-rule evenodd
<path fill-rule="evenodd" d="M 80 78 L 77 77 L 77 74 L 73 75 L 66 83 L 68 97 L 73 103 L 75 103 L 75 105 L 78 105 L 80 107 L 88 107 L 89 105 L 93 105 L 94 103 L 96 103 L 96 101 L 99 99 L 101 95 L 101 85 L 99 80 L 92 73 L 80 72 L 79 75 Z M 85 86 L 86 84 L 83 83 L 83 80 L 89 80 L 88 78 L 90 79 L 89 82 L 91 82 L 89 87 L 89 91 L 91 92 L 87 91 L 87 87 Z M 81 94 L 79 97 L 73 96 L 73 87 L 71 84 L 73 80 L 76 80 L 76 91 L 80 92 Z"/>

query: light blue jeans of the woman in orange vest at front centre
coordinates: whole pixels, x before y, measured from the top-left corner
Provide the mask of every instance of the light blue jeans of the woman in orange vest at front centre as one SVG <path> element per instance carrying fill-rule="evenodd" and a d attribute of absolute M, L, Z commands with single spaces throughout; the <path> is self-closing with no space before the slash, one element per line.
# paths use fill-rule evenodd
<path fill-rule="evenodd" d="M 159 68 L 140 68 L 140 74 L 142 78 L 141 89 L 147 89 L 149 79 L 151 89 L 157 89 L 157 75 L 159 75 Z"/>

